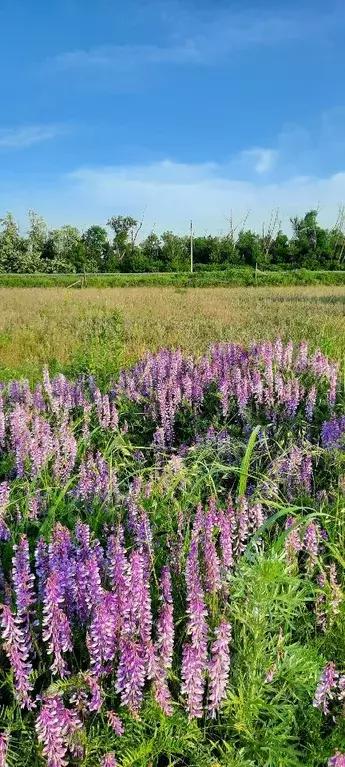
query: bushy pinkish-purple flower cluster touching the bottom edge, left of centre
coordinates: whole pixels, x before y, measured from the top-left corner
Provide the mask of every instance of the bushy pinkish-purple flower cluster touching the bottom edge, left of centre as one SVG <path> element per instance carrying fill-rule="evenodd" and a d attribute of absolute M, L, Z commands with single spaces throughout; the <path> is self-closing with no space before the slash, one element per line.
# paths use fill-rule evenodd
<path fill-rule="evenodd" d="M 36 719 L 36 733 L 47 767 L 66 767 L 68 747 L 81 727 L 77 712 L 64 706 L 61 695 L 45 697 Z"/>

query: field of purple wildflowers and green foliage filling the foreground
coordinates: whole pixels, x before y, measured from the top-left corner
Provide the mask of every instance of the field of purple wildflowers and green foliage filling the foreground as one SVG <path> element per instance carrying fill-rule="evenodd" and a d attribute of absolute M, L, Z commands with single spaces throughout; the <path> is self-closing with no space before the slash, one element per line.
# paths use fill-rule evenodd
<path fill-rule="evenodd" d="M 0 392 L 1 767 L 344 767 L 337 364 L 278 338 Z"/>

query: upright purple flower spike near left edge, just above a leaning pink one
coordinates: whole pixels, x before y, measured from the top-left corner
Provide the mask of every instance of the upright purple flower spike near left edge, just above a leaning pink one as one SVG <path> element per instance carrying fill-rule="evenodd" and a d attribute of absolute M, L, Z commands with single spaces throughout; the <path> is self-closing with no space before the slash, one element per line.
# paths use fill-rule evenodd
<path fill-rule="evenodd" d="M 18 546 L 13 546 L 15 552 L 12 559 L 12 580 L 16 595 L 17 616 L 22 624 L 28 649 L 32 649 L 30 637 L 30 618 L 35 604 L 34 580 L 30 570 L 29 543 L 26 535 L 21 535 Z"/>

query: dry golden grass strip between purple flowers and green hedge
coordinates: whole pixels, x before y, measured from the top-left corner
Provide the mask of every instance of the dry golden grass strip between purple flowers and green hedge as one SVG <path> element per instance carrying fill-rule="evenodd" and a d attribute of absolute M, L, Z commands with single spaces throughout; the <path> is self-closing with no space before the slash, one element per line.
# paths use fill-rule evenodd
<path fill-rule="evenodd" d="M 64 368 L 95 319 L 111 323 L 114 310 L 124 320 L 124 364 L 162 346 L 199 354 L 215 341 L 278 334 L 308 338 L 333 357 L 345 352 L 345 287 L 0 288 L 0 373 Z"/>

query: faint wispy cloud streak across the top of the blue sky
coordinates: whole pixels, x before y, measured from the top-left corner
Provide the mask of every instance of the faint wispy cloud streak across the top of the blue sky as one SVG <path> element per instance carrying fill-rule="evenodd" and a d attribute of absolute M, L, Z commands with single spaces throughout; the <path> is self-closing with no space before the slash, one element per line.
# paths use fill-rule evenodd
<path fill-rule="evenodd" d="M 322 30 L 323 36 L 334 23 L 334 13 L 325 10 L 320 14 L 307 14 L 305 8 L 274 13 L 260 5 L 241 11 L 216 12 L 208 17 L 188 13 L 178 6 L 165 15 L 167 27 L 161 35 L 161 44 L 151 42 L 140 45 L 100 45 L 89 49 L 77 49 L 61 53 L 55 59 L 60 69 L 97 69 L 132 71 L 142 66 L 189 64 L 194 66 L 217 65 L 237 51 L 254 46 L 272 47 L 305 38 L 306 21 L 308 35 L 315 36 Z M 157 35 L 155 36 L 157 38 Z"/>

